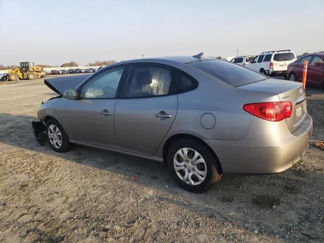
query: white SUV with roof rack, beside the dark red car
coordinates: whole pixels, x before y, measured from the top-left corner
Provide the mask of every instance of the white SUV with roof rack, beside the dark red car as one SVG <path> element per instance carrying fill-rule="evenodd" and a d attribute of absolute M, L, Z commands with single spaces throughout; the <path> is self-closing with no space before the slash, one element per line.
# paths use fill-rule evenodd
<path fill-rule="evenodd" d="M 263 52 L 246 65 L 247 68 L 270 76 L 284 76 L 288 64 L 297 60 L 291 50 Z"/>

